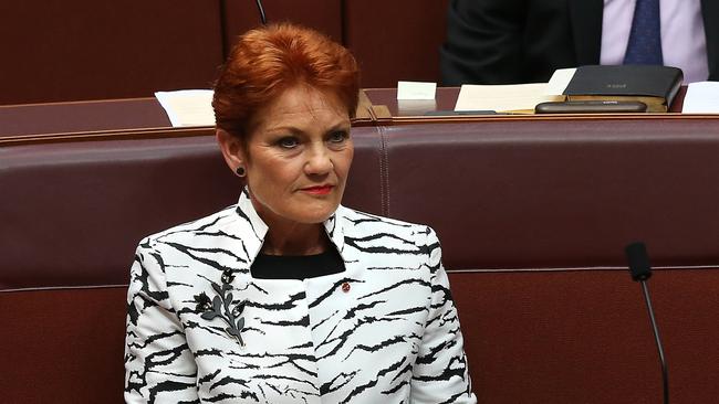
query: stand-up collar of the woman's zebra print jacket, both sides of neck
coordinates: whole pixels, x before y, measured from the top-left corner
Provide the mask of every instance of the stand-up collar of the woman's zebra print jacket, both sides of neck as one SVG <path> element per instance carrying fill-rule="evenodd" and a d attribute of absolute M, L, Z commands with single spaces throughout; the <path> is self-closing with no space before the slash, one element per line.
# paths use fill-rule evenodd
<path fill-rule="evenodd" d="M 344 210 L 345 208 L 340 205 L 337 210 L 323 223 L 330 241 L 337 248 L 340 255 L 342 255 L 344 248 L 344 232 L 342 228 Z M 249 232 L 242 232 L 242 241 L 244 242 L 244 247 L 247 248 L 250 262 L 253 262 L 254 257 L 257 257 L 262 248 L 262 243 L 264 243 L 268 225 L 254 210 L 252 201 L 250 200 L 250 192 L 247 188 L 244 188 L 240 194 L 240 200 L 237 203 L 237 214 L 244 219 L 250 227 Z"/>

